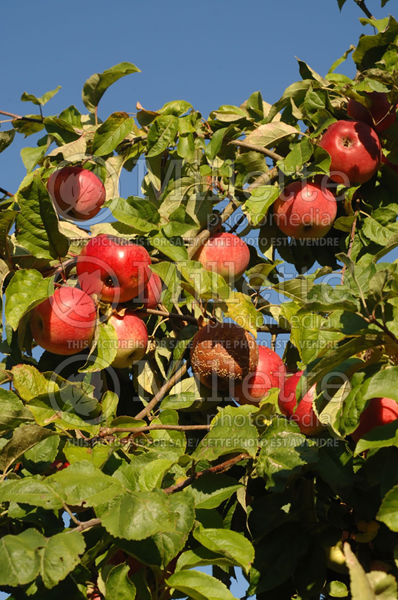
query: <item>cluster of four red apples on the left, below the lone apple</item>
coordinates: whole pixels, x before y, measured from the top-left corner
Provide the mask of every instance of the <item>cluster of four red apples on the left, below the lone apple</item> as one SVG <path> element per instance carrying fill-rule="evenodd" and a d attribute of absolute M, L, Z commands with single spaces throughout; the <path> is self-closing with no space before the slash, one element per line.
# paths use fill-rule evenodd
<path fill-rule="evenodd" d="M 155 308 L 162 282 L 150 271 L 146 249 L 114 236 L 90 239 L 77 257 L 79 287 L 61 286 L 31 314 L 34 340 L 49 352 L 72 355 L 89 346 L 98 322 L 97 302 L 110 302 L 116 311 L 108 323 L 117 335 L 113 367 L 129 367 L 146 352 L 148 334 L 139 308 Z M 95 299 L 95 300 L 94 300 Z M 132 301 L 138 310 L 123 307 Z M 122 310 L 120 310 L 122 309 Z"/>

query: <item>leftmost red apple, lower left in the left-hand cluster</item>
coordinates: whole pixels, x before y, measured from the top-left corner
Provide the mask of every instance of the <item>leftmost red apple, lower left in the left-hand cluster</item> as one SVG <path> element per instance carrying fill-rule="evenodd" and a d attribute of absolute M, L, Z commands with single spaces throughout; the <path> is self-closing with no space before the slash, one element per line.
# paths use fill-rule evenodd
<path fill-rule="evenodd" d="M 93 299 L 77 287 L 62 286 L 32 310 L 31 331 L 44 350 L 76 354 L 91 342 L 96 320 Z"/>

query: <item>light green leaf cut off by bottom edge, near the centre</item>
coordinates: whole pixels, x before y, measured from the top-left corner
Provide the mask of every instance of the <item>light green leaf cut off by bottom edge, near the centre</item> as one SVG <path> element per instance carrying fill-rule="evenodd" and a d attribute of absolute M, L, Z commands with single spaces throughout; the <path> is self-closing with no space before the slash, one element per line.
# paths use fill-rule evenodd
<path fill-rule="evenodd" d="M 166 583 L 194 600 L 237 600 L 224 583 L 201 571 L 179 571 Z"/>

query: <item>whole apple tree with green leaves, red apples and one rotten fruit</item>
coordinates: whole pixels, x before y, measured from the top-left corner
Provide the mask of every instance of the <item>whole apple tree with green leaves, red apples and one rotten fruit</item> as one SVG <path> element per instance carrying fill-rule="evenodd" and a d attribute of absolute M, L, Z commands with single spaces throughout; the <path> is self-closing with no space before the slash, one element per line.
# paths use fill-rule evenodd
<path fill-rule="evenodd" d="M 398 22 L 355 1 L 275 104 L 102 120 L 122 62 L 0 131 L 38 137 L 0 181 L 10 598 L 397 598 Z"/>

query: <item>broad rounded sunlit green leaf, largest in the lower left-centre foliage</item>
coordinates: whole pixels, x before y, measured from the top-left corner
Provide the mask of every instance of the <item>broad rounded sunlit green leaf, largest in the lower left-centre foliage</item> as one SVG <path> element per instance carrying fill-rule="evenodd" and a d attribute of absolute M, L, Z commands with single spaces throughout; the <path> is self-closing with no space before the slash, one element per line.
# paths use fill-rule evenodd
<path fill-rule="evenodd" d="M 161 490 L 120 494 L 99 516 L 102 526 L 115 538 L 138 540 L 159 532 L 172 532 L 177 518 Z"/>

